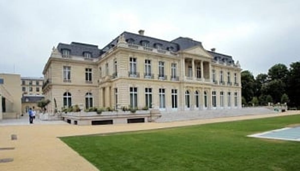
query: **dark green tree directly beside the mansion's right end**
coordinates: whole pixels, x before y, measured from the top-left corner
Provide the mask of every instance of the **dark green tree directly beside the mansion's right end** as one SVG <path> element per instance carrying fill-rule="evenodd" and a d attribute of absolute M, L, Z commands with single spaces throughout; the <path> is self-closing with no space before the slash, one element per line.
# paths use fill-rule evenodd
<path fill-rule="evenodd" d="M 241 72 L 241 86 L 242 96 L 246 99 L 246 102 L 250 102 L 254 96 L 254 77 L 251 72 Z"/>

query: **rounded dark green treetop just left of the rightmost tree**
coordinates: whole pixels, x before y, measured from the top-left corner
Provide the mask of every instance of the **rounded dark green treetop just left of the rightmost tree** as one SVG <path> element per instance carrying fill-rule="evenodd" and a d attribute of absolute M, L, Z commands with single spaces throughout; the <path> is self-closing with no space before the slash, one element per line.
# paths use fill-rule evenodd
<path fill-rule="evenodd" d="M 289 70 L 287 69 L 287 67 L 282 63 L 278 63 L 276 65 L 273 65 L 269 69 L 268 76 L 271 80 L 280 79 L 283 82 L 285 82 L 287 79 L 288 73 L 289 73 Z"/>

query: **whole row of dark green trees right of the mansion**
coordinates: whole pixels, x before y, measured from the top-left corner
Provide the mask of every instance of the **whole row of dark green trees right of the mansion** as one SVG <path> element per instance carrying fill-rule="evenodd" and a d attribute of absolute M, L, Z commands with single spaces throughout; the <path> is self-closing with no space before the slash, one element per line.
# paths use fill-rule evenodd
<path fill-rule="evenodd" d="M 275 64 L 267 74 L 258 74 L 256 78 L 250 71 L 242 71 L 241 85 L 245 106 L 287 103 L 289 107 L 300 108 L 300 61 L 291 63 L 289 68 Z"/>

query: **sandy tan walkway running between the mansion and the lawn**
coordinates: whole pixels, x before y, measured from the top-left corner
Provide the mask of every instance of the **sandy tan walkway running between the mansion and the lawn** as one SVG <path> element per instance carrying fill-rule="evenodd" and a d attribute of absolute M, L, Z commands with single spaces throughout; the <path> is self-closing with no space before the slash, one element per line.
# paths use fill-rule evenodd
<path fill-rule="evenodd" d="M 0 159 L 13 158 L 14 160 L 12 162 L 0 163 L 0 170 L 97 170 L 96 167 L 57 138 L 61 136 L 170 128 L 214 122 L 286 116 L 299 113 L 300 111 L 289 111 L 279 114 L 235 116 L 167 123 L 137 123 L 97 126 L 78 126 L 68 124 L 2 124 L 2 126 L 0 126 L 0 148 L 15 147 L 15 149 L 0 150 Z M 11 134 L 16 134 L 18 139 L 10 140 Z"/>

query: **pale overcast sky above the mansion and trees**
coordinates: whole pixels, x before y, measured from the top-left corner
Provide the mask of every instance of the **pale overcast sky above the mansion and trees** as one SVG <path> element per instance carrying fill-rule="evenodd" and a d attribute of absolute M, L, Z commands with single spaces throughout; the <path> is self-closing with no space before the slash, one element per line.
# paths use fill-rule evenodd
<path fill-rule="evenodd" d="M 299 61 L 300 1 L 0 0 L 0 73 L 40 77 L 52 47 L 104 47 L 123 31 L 179 36 L 231 55 L 254 75 Z"/>

